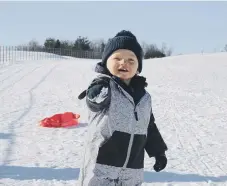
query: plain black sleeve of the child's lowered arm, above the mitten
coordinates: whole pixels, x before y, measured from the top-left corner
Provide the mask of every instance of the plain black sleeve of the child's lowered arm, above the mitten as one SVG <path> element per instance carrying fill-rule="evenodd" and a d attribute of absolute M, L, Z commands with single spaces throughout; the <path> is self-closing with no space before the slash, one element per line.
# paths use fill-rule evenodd
<path fill-rule="evenodd" d="M 147 129 L 145 150 L 149 157 L 155 157 L 157 155 L 164 154 L 167 149 L 167 145 L 164 142 L 157 125 L 155 124 L 154 115 L 151 113 L 150 122 Z"/>

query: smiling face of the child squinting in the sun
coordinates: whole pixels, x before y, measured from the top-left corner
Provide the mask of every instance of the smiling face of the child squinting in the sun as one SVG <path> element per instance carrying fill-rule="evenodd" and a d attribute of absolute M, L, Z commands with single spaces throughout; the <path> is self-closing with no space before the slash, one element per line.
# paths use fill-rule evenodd
<path fill-rule="evenodd" d="M 134 52 L 126 49 L 115 51 L 106 63 L 110 73 L 122 80 L 130 80 L 137 73 L 138 65 Z"/>

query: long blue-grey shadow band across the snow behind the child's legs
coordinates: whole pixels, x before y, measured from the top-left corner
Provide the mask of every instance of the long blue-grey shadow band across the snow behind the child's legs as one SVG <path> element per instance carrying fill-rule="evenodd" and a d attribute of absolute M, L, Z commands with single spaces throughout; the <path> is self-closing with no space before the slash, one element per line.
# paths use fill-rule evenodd
<path fill-rule="evenodd" d="M 49 167 L 22 167 L 0 166 L 0 179 L 9 178 L 15 180 L 77 180 L 79 168 L 49 168 Z M 198 174 L 180 174 L 173 172 L 144 172 L 145 183 L 166 182 L 226 182 L 227 176 L 213 177 Z"/>

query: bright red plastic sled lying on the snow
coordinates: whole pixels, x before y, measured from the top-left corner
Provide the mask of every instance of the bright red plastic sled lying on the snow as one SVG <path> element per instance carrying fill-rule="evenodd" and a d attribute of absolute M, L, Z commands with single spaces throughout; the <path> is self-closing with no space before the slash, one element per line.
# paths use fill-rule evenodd
<path fill-rule="evenodd" d="M 79 114 L 74 114 L 72 112 L 65 112 L 62 114 L 55 114 L 51 117 L 44 118 L 40 121 L 40 126 L 42 127 L 71 127 L 79 124 L 78 119 Z"/>

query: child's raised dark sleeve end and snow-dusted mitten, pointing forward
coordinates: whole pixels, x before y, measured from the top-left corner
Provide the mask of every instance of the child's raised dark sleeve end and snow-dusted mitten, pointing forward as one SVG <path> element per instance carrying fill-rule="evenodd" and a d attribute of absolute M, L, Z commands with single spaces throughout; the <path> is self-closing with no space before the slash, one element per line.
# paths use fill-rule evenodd
<path fill-rule="evenodd" d="M 86 92 L 86 104 L 93 112 L 108 108 L 110 104 L 109 78 L 96 78 Z"/>

